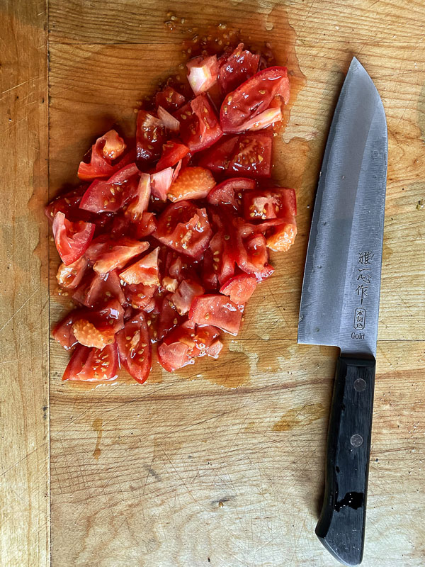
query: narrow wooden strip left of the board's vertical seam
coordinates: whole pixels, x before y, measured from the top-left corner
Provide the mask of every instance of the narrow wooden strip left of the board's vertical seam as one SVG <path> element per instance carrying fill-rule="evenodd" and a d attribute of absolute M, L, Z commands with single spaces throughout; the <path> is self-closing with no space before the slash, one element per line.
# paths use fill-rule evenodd
<path fill-rule="evenodd" d="M 1 2 L 0 563 L 49 564 L 45 3 Z"/>

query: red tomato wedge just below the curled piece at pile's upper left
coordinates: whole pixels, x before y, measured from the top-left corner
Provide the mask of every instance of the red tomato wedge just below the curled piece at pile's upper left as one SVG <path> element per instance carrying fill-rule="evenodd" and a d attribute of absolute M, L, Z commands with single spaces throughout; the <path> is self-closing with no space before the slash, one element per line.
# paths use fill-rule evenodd
<path fill-rule="evenodd" d="M 95 179 L 84 193 L 80 208 L 92 213 L 116 213 L 135 195 L 139 176 L 137 165 L 129 164 L 108 181 Z"/>

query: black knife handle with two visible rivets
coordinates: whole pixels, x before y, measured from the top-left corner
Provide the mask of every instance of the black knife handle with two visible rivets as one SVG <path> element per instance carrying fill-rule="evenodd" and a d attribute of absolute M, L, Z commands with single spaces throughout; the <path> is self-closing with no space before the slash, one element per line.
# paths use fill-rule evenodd
<path fill-rule="evenodd" d="M 358 565 L 363 557 L 374 385 L 375 359 L 339 357 L 316 535 L 349 566 Z"/>

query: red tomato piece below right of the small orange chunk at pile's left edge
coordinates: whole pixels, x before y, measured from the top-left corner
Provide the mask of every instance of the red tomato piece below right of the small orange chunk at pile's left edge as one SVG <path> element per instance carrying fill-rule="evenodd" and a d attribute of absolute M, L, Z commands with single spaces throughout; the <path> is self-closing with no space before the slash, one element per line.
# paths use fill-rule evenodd
<path fill-rule="evenodd" d="M 81 283 L 77 288 L 72 298 L 75 301 L 86 305 L 86 307 L 94 308 L 97 305 L 103 305 L 115 297 L 123 304 L 125 303 L 125 296 L 123 288 L 120 285 L 120 279 L 116 271 L 110 271 L 108 274 L 93 274 L 89 281 Z"/>

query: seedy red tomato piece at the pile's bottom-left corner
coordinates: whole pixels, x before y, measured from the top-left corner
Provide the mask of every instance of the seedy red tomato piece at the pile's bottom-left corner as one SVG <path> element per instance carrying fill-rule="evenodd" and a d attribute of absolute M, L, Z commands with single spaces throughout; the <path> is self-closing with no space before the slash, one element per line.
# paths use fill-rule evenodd
<path fill-rule="evenodd" d="M 102 350 L 89 349 L 79 344 L 64 371 L 62 380 L 111 381 L 118 374 L 118 350 L 115 342 Z"/>

